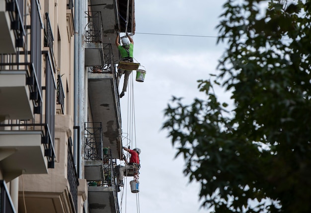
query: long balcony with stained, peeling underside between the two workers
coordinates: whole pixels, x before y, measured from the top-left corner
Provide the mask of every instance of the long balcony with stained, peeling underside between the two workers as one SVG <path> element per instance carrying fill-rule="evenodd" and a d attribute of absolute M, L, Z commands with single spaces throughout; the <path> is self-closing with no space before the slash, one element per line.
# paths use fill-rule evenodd
<path fill-rule="evenodd" d="M 116 72 L 88 71 L 88 98 L 93 122 L 100 122 L 103 129 L 103 146 L 111 149 L 112 158 L 121 158 L 121 112 Z M 121 153 L 121 154 L 120 154 Z"/>

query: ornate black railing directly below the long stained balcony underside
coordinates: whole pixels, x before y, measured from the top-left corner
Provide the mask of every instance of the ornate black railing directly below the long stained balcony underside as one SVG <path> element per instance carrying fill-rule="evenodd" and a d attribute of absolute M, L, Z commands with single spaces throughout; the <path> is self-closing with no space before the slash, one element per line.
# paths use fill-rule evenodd
<path fill-rule="evenodd" d="M 85 160 L 102 160 L 102 126 L 101 122 L 86 122 L 85 123 Z"/>

